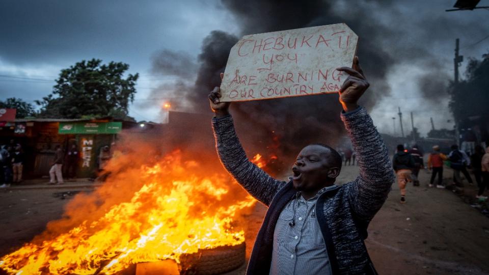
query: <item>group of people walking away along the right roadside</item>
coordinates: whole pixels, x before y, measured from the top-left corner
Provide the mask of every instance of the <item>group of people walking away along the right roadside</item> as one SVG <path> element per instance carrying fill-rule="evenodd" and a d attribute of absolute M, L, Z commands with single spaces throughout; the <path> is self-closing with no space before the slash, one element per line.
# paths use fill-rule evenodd
<path fill-rule="evenodd" d="M 440 146 L 432 147 L 432 151 L 428 154 L 426 168 L 431 171 L 431 178 L 428 187 L 434 187 L 433 184 L 438 176 L 436 184 L 437 188 L 446 188 L 453 186 L 452 190 L 458 193 L 463 192 L 464 183 L 461 175 L 464 175 L 467 182 L 472 185 L 473 180 L 468 172 L 468 168 L 472 168 L 475 180 L 478 185 L 476 199 L 485 201 L 484 191 L 489 190 L 489 147 L 485 152 L 482 146 L 475 147 L 475 153 L 470 156 L 458 148 L 457 145 L 452 145 L 450 153 L 445 155 L 441 152 Z M 423 153 L 417 145 L 414 145 L 410 150 L 404 148 L 400 144 L 396 148 L 396 153 L 392 159 L 392 166 L 397 176 L 397 182 L 400 189 L 400 202 L 406 202 L 406 184 L 413 182 L 413 186 L 420 186 L 419 171 L 424 166 Z M 453 184 L 444 184 L 443 182 L 443 167 L 447 166 L 453 171 Z"/>

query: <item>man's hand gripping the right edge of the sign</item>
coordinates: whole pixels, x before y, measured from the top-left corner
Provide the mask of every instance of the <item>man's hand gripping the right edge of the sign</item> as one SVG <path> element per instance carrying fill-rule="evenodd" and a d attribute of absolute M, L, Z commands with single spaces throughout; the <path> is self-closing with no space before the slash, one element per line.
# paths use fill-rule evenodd
<path fill-rule="evenodd" d="M 353 60 L 353 68 L 341 67 L 336 70 L 349 74 L 341 86 L 339 100 L 345 112 L 353 111 L 358 108 L 357 102 L 370 84 L 363 75 L 358 57 Z"/>

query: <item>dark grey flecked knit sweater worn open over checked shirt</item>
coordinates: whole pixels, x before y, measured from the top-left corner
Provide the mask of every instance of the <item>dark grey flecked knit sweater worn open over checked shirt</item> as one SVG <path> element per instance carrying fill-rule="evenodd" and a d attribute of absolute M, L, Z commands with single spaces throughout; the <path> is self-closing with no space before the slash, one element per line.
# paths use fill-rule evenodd
<path fill-rule="evenodd" d="M 387 148 L 365 108 L 341 115 L 357 152 L 355 181 L 318 198 L 316 213 L 334 274 L 375 274 L 364 239 L 367 226 L 382 207 L 394 173 Z M 249 161 L 231 116 L 212 120 L 216 147 L 224 167 L 253 197 L 268 206 L 258 232 L 247 274 L 268 274 L 278 216 L 295 195 L 292 182 L 276 180 Z"/>

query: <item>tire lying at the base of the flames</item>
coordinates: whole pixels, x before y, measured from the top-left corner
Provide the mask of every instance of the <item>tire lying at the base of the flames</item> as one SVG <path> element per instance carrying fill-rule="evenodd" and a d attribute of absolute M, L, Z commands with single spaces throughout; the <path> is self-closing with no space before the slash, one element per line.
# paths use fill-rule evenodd
<path fill-rule="evenodd" d="M 219 246 L 213 249 L 199 250 L 197 253 L 180 257 L 180 274 L 221 274 L 234 270 L 244 263 L 246 245 Z"/>

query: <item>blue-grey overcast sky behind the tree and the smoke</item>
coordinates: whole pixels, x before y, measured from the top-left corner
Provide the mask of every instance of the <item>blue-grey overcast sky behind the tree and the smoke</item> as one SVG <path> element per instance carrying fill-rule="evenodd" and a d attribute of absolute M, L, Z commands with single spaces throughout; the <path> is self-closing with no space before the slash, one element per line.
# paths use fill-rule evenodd
<path fill-rule="evenodd" d="M 385 1 L 373 2 L 378 5 Z M 365 12 L 375 13 L 379 22 L 403 31 L 402 37 L 392 35 L 392 39 L 385 40 L 387 44 L 378 45 L 381 48 L 409 41 L 428 43 L 426 39 L 432 37 L 428 50 L 439 57 L 443 68 L 440 75 L 452 77 L 455 38 L 460 38 L 460 54 L 465 61 L 468 57 L 480 59 L 489 52 L 489 39 L 476 43 L 489 36 L 489 10 L 445 12 L 454 2 L 397 1 L 392 4 L 394 8 Z M 479 6 L 482 5 L 489 6 L 489 0 L 482 0 Z M 338 9 L 347 12 L 345 7 Z M 34 103 L 51 92 L 54 79 L 63 68 L 91 58 L 120 61 L 130 65 L 130 73 L 141 75 L 129 115 L 137 120 L 158 121 L 159 109 L 144 103 L 152 88 L 171 82 L 172 76 L 151 71 L 155 52 L 182 51 L 197 60 L 202 40 L 212 30 L 240 35 L 239 24 L 239 18 L 219 1 L 0 0 L 0 99 L 20 97 Z M 362 33 L 358 35 L 360 43 L 368 39 Z M 462 72 L 466 64 L 463 63 Z M 393 132 L 392 117 L 397 117 L 399 105 L 405 128 L 410 129 L 410 111 L 414 111 L 422 134 L 430 129 L 429 117 L 433 117 L 437 128 L 453 126 L 447 123 L 452 118 L 444 91 L 440 91 L 444 99 L 433 107 L 432 98 L 426 100 L 413 81 L 427 70 L 431 71 L 429 64 L 410 62 L 409 58 L 391 68 L 387 74 L 391 94 L 379 99 L 381 103 L 371 110 L 381 131 Z"/>

